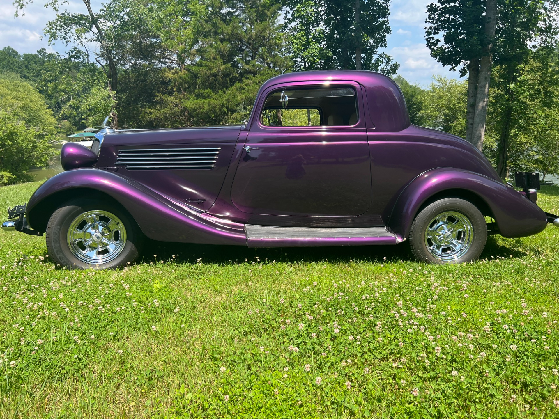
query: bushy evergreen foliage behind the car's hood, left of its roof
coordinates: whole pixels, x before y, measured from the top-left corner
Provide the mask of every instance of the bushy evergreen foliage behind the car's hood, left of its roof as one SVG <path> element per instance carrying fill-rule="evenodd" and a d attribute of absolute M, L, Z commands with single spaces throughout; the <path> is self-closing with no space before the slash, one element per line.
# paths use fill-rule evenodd
<path fill-rule="evenodd" d="M 285 39 L 278 24 L 279 6 L 256 0 L 211 0 L 208 7 L 209 16 L 197 8 L 185 11 L 192 17 L 191 24 L 196 25 L 188 32 L 188 36 L 196 36 L 191 41 L 196 47 L 187 58 L 181 55 L 180 45 L 167 44 L 177 48 L 177 57 L 184 62 L 179 68 L 163 70 L 162 77 L 152 85 L 154 97 L 141 109 L 142 125 L 200 126 L 245 121 L 260 85 L 290 65 L 283 54 Z M 162 9 L 167 16 L 174 5 L 163 3 Z M 162 31 L 164 38 L 170 40 L 177 28 L 162 26 Z"/>

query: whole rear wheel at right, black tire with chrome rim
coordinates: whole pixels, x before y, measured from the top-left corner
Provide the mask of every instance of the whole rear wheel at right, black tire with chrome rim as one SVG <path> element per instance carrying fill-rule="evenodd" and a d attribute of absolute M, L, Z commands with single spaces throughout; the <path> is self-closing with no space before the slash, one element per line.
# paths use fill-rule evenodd
<path fill-rule="evenodd" d="M 476 260 L 484 250 L 487 225 L 479 209 L 459 198 L 444 198 L 425 207 L 410 228 L 416 258 L 434 264 Z"/>

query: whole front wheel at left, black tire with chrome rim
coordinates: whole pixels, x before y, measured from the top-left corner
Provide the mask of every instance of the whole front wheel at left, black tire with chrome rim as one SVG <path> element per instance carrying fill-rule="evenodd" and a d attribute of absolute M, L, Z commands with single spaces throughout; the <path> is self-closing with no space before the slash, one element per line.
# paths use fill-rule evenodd
<path fill-rule="evenodd" d="M 46 227 L 46 247 L 68 269 L 116 269 L 138 258 L 144 236 L 116 203 L 80 199 L 56 209 Z"/>

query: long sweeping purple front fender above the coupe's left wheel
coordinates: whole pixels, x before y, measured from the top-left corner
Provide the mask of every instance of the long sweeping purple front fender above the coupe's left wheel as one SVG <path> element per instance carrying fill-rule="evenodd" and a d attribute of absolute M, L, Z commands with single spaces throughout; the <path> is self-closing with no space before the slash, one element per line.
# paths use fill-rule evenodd
<path fill-rule="evenodd" d="M 244 225 L 190 209 L 120 174 L 90 168 L 69 170 L 43 183 L 27 204 L 27 222 L 44 232 L 56 208 L 81 197 L 113 199 L 153 240 L 229 245 L 247 242 Z"/>

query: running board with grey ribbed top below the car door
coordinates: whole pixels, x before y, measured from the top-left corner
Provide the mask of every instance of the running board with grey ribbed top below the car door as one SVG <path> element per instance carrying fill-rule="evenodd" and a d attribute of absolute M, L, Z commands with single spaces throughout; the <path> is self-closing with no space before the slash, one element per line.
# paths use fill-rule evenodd
<path fill-rule="evenodd" d="M 248 247 L 389 245 L 405 240 L 386 227 L 269 227 L 247 224 L 245 232 Z"/>

